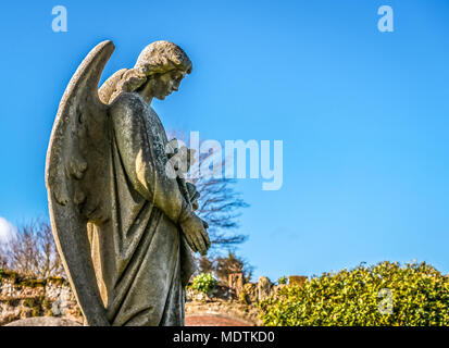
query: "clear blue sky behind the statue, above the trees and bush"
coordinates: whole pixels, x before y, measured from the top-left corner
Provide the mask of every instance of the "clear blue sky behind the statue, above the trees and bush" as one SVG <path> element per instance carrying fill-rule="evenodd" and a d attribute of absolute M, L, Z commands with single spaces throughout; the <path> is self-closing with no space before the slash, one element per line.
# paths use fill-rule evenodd
<path fill-rule="evenodd" d="M 67 33 L 51 30 L 57 4 Z M 394 33 L 377 29 L 383 4 Z M 166 128 L 284 141 L 280 190 L 237 184 L 255 276 L 413 259 L 449 273 L 448 1 L 21 1 L 2 4 L 0 28 L 8 221 L 48 214 L 48 140 L 87 52 L 114 41 L 104 78 L 167 39 L 194 73 L 154 103 Z"/>

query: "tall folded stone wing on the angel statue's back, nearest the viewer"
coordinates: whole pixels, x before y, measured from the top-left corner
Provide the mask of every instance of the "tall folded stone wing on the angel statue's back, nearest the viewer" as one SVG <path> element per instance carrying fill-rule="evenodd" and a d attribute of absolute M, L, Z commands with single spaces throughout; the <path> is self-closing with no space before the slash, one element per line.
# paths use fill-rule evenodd
<path fill-rule="evenodd" d="M 110 123 L 98 83 L 114 51 L 97 45 L 73 75 L 59 105 L 47 152 L 46 186 L 50 220 L 65 272 L 88 325 L 108 325 L 87 234 L 87 223 L 108 216 Z"/>

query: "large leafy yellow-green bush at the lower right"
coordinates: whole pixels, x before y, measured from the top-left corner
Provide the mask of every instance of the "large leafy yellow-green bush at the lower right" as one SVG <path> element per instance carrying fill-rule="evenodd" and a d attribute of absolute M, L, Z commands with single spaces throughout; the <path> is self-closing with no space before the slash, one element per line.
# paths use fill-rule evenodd
<path fill-rule="evenodd" d="M 449 284 L 424 262 L 386 261 L 285 286 L 259 307 L 267 326 L 449 325 Z"/>

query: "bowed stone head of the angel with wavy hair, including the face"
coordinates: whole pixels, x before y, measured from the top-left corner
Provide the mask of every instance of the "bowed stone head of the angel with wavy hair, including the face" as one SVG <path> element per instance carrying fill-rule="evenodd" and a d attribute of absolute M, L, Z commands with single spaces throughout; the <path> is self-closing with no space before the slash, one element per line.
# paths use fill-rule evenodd
<path fill-rule="evenodd" d="M 139 92 L 148 99 L 165 99 L 178 90 L 192 64 L 184 50 L 170 41 L 148 45 L 139 54 L 136 65 L 115 73 L 100 89 L 103 102 L 112 102 L 121 92 Z M 104 88 L 103 88 L 104 87 Z"/>

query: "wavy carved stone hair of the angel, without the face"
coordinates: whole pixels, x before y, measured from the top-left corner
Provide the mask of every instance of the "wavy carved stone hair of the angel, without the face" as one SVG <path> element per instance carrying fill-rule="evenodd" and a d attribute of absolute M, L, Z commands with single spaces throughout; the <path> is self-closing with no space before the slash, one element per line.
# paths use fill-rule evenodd
<path fill-rule="evenodd" d="M 108 78 L 99 90 L 100 99 L 111 103 L 120 94 L 132 92 L 144 86 L 152 75 L 172 70 L 191 73 L 192 64 L 186 52 L 170 41 L 152 42 L 140 52 L 133 69 L 122 69 Z"/>

